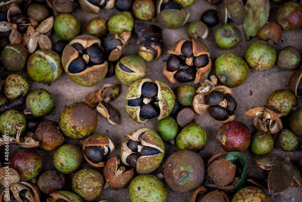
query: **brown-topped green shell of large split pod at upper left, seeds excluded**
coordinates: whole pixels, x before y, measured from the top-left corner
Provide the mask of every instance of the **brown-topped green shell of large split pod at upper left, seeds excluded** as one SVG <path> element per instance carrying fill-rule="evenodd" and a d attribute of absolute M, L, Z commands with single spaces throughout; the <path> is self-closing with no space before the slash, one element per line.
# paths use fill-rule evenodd
<path fill-rule="evenodd" d="M 79 57 L 79 53 L 71 45 L 79 43 L 84 49 L 96 44 L 98 47 L 101 47 L 101 40 L 95 36 L 89 34 L 80 35 L 72 39 L 69 44 L 63 50 L 62 53 L 62 65 L 65 72 L 68 74 L 69 78 L 75 83 L 81 86 L 93 86 L 99 83 L 105 76 L 108 71 L 108 62 L 104 61 L 103 64 L 93 65 L 89 68 L 86 68 L 79 73 L 70 73 L 68 70 L 69 64 Z"/>

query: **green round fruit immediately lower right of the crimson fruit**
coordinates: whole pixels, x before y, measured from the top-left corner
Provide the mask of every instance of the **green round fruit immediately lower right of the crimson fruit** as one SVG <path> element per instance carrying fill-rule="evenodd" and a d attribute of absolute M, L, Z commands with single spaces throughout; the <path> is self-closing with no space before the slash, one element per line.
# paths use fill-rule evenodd
<path fill-rule="evenodd" d="M 255 155 L 263 156 L 273 150 L 274 139 L 268 132 L 258 131 L 252 136 L 250 145 Z"/>

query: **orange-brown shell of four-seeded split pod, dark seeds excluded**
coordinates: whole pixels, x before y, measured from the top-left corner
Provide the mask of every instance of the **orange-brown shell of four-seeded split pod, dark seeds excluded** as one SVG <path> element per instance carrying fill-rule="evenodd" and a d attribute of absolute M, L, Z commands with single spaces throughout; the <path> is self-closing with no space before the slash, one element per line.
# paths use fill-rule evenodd
<path fill-rule="evenodd" d="M 181 39 L 170 47 L 170 49 L 168 50 L 168 54 L 181 55 L 182 54 L 182 51 L 181 51 L 182 44 L 184 44 L 186 41 L 192 41 L 194 57 L 197 57 L 199 55 L 204 55 L 204 54 L 208 55 L 208 57 L 209 57 L 209 63 L 207 64 L 207 66 L 199 68 L 199 69 L 196 68 L 197 73 L 196 73 L 195 80 L 193 82 L 196 84 L 196 83 L 201 82 L 202 80 L 204 80 L 207 77 L 207 75 L 209 74 L 211 67 L 212 67 L 212 60 L 210 58 L 209 49 L 206 47 L 206 45 L 204 45 L 204 43 L 202 43 L 198 39 Z M 167 70 L 167 66 L 165 66 L 164 70 L 163 70 L 163 74 L 165 75 L 165 77 L 167 77 L 167 79 L 171 83 L 178 83 L 178 81 L 174 79 L 174 74 L 177 71 L 178 70 L 176 70 L 174 72 L 170 72 Z"/>

